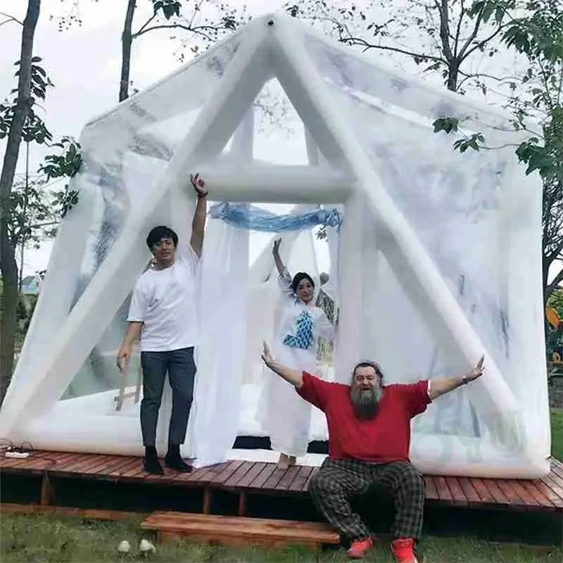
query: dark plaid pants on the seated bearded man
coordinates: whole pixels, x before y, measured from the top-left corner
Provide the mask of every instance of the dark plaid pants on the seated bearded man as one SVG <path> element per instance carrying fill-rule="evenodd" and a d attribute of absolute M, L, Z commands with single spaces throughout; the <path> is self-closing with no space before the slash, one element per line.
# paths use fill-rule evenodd
<path fill-rule="evenodd" d="M 425 486 L 422 475 L 407 462 L 372 464 L 360 460 L 327 457 L 313 476 L 309 491 L 325 519 L 350 541 L 365 540 L 369 530 L 352 511 L 350 499 L 363 495 L 369 486 L 382 485 L 395 499 L 395 538 L 419 539 L 422 532 Z"/>

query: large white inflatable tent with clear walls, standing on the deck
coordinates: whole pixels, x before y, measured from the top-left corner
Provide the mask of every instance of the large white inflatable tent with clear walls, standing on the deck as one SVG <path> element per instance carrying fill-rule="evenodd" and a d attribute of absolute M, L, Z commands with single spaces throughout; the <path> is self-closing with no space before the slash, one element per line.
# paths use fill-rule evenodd
<path fill-rule="evenodd" d="M 291 120 L 288 162 L 260 148 L 268 137 L 264 103 L 255 101 L 270 95 L 277 105 L 272 91 L 289 107 L 269 127 L 275 135 Z M 91 120 L 71 186 L 79 201 L 53 247 L 0 411 L 1 436 L 34 448 L 142 452 L 138 372 L 125 384 L 115 354 L 129 293 L 150 258 L 146 233 L 169 224 L 181 250 L 194 211 L 186 178 L 198 171 L 213 201 L 343 213 L 341 229 L 327 229 L 339 307 L 336 381 L 350 381 L 363 358 L 377 359 L 391 383 L 467 372 L 485 355 L 484 377 L 413 420 L 419 469 L 546 474 L 540 182 L 524 175 L 513 146 L 453 151 L 453 139 L 432 129 L 444 116 L 469 134 L 483 132 L 491 146 L 521 141 L 509 116 L 405 77 L 280 13 L 253 20 Z M 268 246 L 249 267 L 250 236 L 208 220 L 195 304 L 198 377 L 182 449 L 200 464 L 225 459 L 241 412 L 253 408 L 243 404 L 243 388 L 266 377 L 259 355 L 273 332 L 274 265 Z M 290 268 L 307 262 L 318 274 L 310 232 L 282 239 Z M 162 447 L 167 410 L 169 393 Z M 311 437 L 326 439 L 322 415 L 315 417 Z"/>

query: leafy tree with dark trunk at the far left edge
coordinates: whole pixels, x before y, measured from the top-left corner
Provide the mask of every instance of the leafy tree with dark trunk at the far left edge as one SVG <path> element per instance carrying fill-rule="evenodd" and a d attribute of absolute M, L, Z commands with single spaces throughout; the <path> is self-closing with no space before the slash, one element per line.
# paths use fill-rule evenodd
<path fill-rule="evenodd" d="M 3 278 L 2 315 L 0 320 L 0 403 L 11 379 L 15 331 L 18 320 L 18 297 L 22 279 L 23 253 L 29 243 L 38 243 L 45 236 L 54 236 L 59 217 L 77 202 L 77 192 L 65 189 L 51 193 L 47 181 L 51 178 L 72 177 L 82 163 L 80 145 L 70 137 L 51 143 L 53 136 L 34 108 L 37 101 L 46 99 L 46 92 L 53 86 L 41 58 L 33 56 L 33 37 L 39 18 L 39 1 L 30 0 L 23 23 L 18 88 L 0 103 L 0 139 L 8 137 L 4 166 L 0 178 L 0 267 Z M 12 20 L 17 21 L 12 18 Z M 6 21 L 12 21 L 6 20 Z M 26 172 L 23 179 L 16 179 L 20 144 L 26 144 Z M 29 176 L 27 165 L 30 144 L 44 144 L 61 149 L 45 157 L 45 163 L 37 177 Z M 20 267 L 16 251 L 20 249 Z"/>

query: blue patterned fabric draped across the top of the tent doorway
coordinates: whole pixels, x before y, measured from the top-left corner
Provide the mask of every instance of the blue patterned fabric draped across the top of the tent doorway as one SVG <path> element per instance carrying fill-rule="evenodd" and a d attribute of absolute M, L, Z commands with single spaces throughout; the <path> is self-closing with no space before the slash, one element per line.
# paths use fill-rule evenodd
<path fill-rule="evenodd" d="M 317 225 L 340 229 L 342 224 L 342 215 L 336 209 L 317 209 L 301 215 L 296 213 L 275 215 L 248 203 L 217 203 L 210 208 L 209 215 L 213 219 L 221 219 L 239 229 L 272 233 L 310 229 Z"/>

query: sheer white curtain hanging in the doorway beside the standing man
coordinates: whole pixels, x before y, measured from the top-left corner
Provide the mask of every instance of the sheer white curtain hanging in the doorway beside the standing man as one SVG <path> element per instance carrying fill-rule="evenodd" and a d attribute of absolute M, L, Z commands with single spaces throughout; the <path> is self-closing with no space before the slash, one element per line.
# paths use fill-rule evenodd
<path fill-rule="evenodd" d="M 246 357 L 248 231 L 212 220 L 205 233 L 201 345 L 184 455 L 196 467 L 220 463 L 239 425 Z"/>

